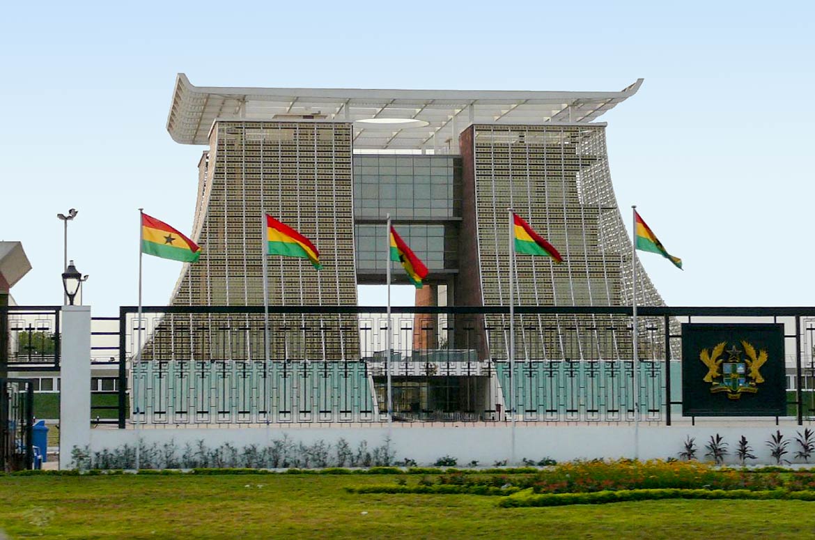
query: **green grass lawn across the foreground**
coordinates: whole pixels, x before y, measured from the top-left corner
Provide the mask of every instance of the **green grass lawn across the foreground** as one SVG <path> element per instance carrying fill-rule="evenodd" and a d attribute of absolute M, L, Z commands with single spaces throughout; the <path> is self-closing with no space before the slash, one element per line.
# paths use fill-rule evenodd
<path fill-rule="evenodd" d="M 349 494 L 397 476 L 0 476 L 11 538 L 811 538 L 812 502 L 500 508 L 478 495 Z M 746 525 L 747 524 L 747 525 Z M 744 527 L 747 526 L 747 529 Z"/>

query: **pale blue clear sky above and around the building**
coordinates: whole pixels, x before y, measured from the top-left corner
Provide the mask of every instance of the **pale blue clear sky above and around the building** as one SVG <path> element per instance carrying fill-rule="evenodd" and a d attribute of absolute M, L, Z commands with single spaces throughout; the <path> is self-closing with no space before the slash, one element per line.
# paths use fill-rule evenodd
<path fill-rule="evenodd" d="M 672 255 L 641 261 L 672 306 L 813 306 L 815 2 L 11 2 L 0 32 L 0 240 L 33 269 L 17 303 L 138 294 L 139 212 L 192 228 L 204 147 L 174 143 L 196 86 L 619 91 L 611 178 Z M 144 259 L 145 305 L 180 263 Z M 381 305 L 381 294 L 362 302 Z M 394 304 L 410 303 L 410 288 Z"/>

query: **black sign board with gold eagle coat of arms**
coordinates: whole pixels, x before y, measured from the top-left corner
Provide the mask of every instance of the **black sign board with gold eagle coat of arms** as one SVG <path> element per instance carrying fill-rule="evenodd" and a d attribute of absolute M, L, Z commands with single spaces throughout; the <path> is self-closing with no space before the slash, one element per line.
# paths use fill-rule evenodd
<path fill-rule="evenodd" d="M 682 413 L 785 415 L 783 325 L 683 324 Z"/>

